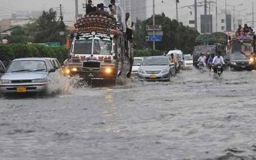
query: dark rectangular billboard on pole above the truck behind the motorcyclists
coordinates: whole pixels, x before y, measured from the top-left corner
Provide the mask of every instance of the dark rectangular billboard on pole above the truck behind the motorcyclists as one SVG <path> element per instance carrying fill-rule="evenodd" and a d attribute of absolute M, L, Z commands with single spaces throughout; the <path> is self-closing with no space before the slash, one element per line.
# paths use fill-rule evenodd
<path fill-rule="evenodd" d="M 212 15 L 201 15 L 201 33 L 212 33 Z"/>

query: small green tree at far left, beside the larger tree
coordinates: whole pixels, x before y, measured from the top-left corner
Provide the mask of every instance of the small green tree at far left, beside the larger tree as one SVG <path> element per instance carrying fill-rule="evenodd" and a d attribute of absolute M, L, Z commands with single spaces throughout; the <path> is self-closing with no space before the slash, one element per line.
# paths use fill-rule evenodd
<path fill-rule="evenodd" d="M 30 42 L 29 35 L 25 32 L 25 30 L 21 27 L 14 28 L 10 36 L 6 36 L 6 39 L 10 43 L 22 43 L 27 44 Z"/>

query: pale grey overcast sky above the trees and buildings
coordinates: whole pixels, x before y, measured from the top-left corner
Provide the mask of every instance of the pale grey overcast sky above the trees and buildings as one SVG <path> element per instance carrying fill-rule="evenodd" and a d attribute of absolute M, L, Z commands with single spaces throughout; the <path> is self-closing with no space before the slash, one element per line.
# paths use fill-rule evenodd
<path fill-rule="evenodd" d="M 84 13 L 82 9 L 82 3 L 84 0 L 79 1 L 79 12 Z M 139 1 L 139 0 L 138 0 Z M 162 2 L 163 1 L 163 2 Z M 202 2 L 204 0 L 198 0 L 198 2 Z M 209 0 L 208 0 L 209 1 Z M 215 0 L 213 0 L 215 1 Z M 229 5 L 237 5 L 243 3 L 243 6 L 239 6 L 236 10 L 246 9 L 242 11 L 241 14 L 246 14 L 252 12 L 252 1 L 255 2 L 255 12 L 256 12 L 256 0 L 227 0 Z M 103 0 L 93 0 L 94 4 L 98 4 L 103 2 Z M 194 0 L 180 0 L 179 4 L 179 14 L 182 17 L 182 14 L 186 15 L 188 12 L 192 11 L 189 8 L 180 8 L 186 5 L 192 5 Z M 58 10 L 59 5 L 62 4 L 63 12 L 64 12 L 64 20 L 72 21 L 74 20 L 75 15 L 75 0 L 0 0 L 0 19 L 7 18 L 11 13 L 15 13 L 16 11 L 42 11 L 49 10 L 49 8 L 54 8 Z M 214 4 L 215 5 L 215 4 Z M 152 15 L 152 0 L 147 0 L 147 17 Z M 156 14 L 160 14 L 164 12 L 166 16 L 170 18 L 176 17 L 175 10 L 175 0 L 155 0 L 156 6 Z M 215 6 L 212 6 L 215 8 Z M 212 12 L 215 12 L 214 8 L 212 8 Z M 218 8 L 225 8 L 225 0 L 218 0 Z M 231 7 L 228 7 L 231 9 Z M 198 8 L 199 13 L 203 13 L 204 7 Z M 238 14 L 238 13 L 236 13 Z M 256 16 L 256 15 L 255 15 Z"/>

